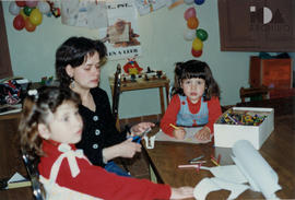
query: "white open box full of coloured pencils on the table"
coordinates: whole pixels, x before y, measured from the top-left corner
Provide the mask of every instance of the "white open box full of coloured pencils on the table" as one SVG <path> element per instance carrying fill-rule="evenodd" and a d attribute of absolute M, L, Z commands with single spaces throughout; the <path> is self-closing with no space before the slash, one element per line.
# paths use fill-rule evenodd
<path fill-rule="evenodd" d="M 215 146 L 232 148 L 248 140 L 259 150 L 274 129 L 273 108 L 233 107 L 214 123 Z"/>

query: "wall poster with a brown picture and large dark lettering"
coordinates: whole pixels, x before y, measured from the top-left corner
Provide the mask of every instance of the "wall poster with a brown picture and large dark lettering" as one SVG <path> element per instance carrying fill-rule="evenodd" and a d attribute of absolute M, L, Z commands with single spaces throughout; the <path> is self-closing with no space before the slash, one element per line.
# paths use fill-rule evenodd
<path fill-rule="evenodd" d="M 108 26 L 98 30 L 109 60 L 133 58 L 141 55 L 138 13 L 132 0 L 107 1 Z"/>

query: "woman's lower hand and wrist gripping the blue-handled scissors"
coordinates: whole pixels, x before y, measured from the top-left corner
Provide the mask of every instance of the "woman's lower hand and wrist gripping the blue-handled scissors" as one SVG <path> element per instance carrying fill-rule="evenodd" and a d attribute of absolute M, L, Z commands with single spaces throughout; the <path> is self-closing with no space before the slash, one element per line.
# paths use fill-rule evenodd
<path fill-rule="evenodd" d="M 106 161 L 113 160 L 115 157 L 133 157 L 137 152 L 141 152 L 141 144 L 132 142 L 132 138 L 126 141 L 105 148 L 103 150 L 103 156 Z"/>

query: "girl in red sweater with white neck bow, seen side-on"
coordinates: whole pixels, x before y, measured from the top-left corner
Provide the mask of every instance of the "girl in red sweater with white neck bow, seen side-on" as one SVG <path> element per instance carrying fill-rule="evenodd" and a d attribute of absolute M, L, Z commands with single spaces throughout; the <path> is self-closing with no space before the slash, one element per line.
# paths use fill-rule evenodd
<path fill-rule="evenodd" d="M 21 145 L 40 156 L 39 180 L 46 199 L 182 199 L 193 197 L 193 188 L 118 176 L 92 165 L 82 150 L 83 122 L 78 94 L 59 87 L 30 91 L 20 121 Z"/>

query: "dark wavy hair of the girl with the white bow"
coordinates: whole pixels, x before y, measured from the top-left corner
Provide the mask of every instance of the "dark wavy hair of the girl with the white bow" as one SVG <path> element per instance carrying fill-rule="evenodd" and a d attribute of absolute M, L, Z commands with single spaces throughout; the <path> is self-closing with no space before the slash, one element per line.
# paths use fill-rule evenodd
<path fill-rule="evenodd" d="M 69 89 L 43 86 L 28 91 L 19 125 L 22 149 L 31 155 L 43 155 L 38 123 L 47 125 L 48 115 L 54 114 L 58 106 L 67 101 L 75 103 L 76 106 L 81 103 L 80 96 Z"/>

